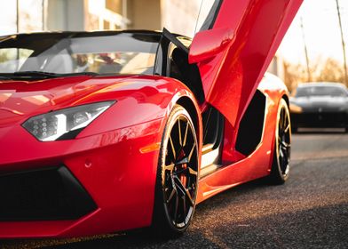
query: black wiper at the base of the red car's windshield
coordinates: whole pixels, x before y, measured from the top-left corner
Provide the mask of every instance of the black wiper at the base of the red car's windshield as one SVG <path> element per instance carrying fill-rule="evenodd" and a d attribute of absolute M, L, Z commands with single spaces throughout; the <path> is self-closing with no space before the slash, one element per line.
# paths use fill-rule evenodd
<path fill-rule="evenodd" d="M 99 76 L 94 72 L 81 72 L 81 73 L 69 73 L 69 74 L 56 74 L 43 71 L 18 71 L 13 73 L 0 73 L 0 77 L 5 78 L 56 78 L 66 76 Z"/>

